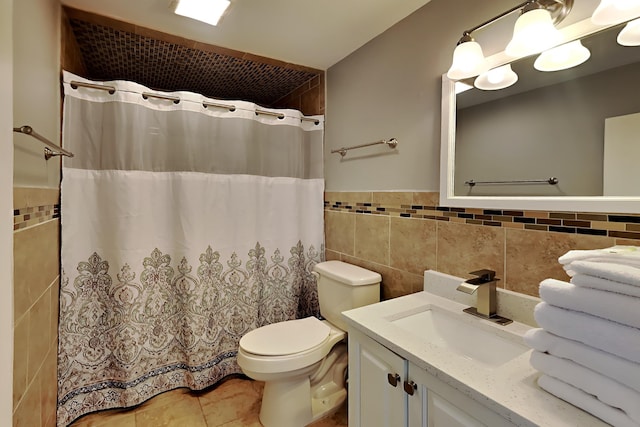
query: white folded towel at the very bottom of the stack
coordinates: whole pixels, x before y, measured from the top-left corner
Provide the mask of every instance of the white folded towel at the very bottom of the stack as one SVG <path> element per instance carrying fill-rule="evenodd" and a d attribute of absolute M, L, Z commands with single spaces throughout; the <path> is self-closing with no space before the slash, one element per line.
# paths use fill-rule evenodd
<path fill-rule="evenodd" d="M 602 403 L 595 396 L 585 393 L 579 388 L 560 381 L 549 375 L 541 375 L 538 378 L 538 385 L 543 390 L 548 391 L 556 397 L 571 403 L 578 408 L 596 416 L 606 423 L 615 427 L 640 427 L 627 414 L 617 408 L 612 408 L 606 403 Z"/>

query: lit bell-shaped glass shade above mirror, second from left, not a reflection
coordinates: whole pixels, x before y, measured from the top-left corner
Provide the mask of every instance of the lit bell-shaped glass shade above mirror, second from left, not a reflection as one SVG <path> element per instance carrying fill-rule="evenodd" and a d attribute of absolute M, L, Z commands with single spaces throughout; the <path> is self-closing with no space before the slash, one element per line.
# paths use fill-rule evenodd
<path fill-rule="evenodd" d="M 560 31 L 553 26 L 551 13 L 532 2 L 525 6 L 516 21 L 513 38 L 505 52 L 509 56 L 528 56 L 557 45 L 562 40 Z"/>

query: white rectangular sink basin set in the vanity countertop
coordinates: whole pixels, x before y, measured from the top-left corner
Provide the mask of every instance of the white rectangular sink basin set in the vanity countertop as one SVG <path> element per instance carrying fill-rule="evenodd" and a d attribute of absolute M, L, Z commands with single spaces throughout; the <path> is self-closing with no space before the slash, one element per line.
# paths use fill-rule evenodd
<path fill-rule="evenodd" d="M 434 305 L 393 316 L 389 321 L 422 341 L 489 368 L 529 350 L 521 336 L 509 333 L 504 326 L 488 325 L 464 313 L 450 313 Z"/>

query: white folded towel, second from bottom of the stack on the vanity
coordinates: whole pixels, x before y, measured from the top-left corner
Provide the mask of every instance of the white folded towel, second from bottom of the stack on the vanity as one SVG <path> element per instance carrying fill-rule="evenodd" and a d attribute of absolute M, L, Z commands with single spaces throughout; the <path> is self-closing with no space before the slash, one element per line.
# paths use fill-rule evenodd
<path fill-rule="evenodd" d="M 580 390 L 603 403 L 620 408 L 634 422 L 640 423 L 640 393 L 591 369 L 550 354 L 533 351 L 531 366 Z"/>

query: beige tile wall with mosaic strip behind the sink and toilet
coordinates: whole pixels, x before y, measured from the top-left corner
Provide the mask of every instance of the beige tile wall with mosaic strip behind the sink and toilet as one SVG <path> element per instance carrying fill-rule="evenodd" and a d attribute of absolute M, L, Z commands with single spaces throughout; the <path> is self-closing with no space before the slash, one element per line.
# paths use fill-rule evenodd
<path fill-rule="evenodd" d="M 449 208 L 438 196 L 326 192 L 326 258 L 382 274 L 383 299 L 421 291 L 427 269 L 489 268 L 499 286 L 538 296 L 543 279 L 568 279 L 557 261 L 567 251 L 640 245 L 640 215 Z"/>

